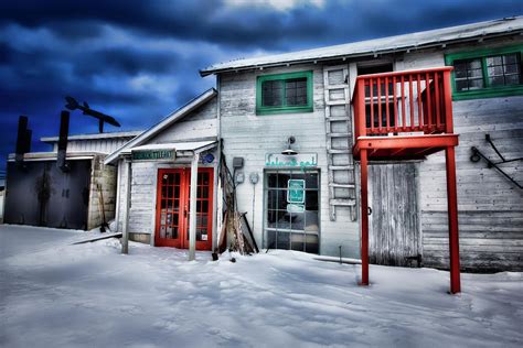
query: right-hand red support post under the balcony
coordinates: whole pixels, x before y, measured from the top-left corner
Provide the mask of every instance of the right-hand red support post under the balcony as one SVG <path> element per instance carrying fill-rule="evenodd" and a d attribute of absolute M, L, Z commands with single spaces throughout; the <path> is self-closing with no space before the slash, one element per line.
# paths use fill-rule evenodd
<path fill-rule="evenodd" d="M 460 281 L 460 273 L 459 273 L 458 194 L 457 194 L 457 187 L 456 187 L 456 159 L 455 159 L 453 146 L 447 146 L 445 150 L 445 155 L 446 155 L 446 162 L 447 162 L 447 204 L 448 204 L 448 217 L 449 217 L 450 293 L 456 294 L 456 293 L 461 292 L 461 281 Z M 363 157 L 362 157 L 362 161 L 363 161 Z M 362 176 L 362 180 L 363 180 L 363 176 Z M 362 184 L 362 187 L 363 187 L 363 184 Z"/>

